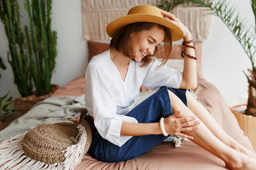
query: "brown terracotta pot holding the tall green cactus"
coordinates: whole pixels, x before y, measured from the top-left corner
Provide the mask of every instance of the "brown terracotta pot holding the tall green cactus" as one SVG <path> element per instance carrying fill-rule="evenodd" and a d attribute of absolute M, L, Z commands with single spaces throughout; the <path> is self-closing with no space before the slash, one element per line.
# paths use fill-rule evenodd
<path fill-rule="evenodd" d="M 51 93 L 48 95 L 36 96 L 36 92 L 33 92 L 33 95 L 27 97 L 18 97 L 14 102 L 14 111 L 22 116 L 29 111 L 29 109 L 35 104 L 42 102 L 47 97 L 51 97 L 52 93 L 54 93 L 58 88 L 60 88 L 57 84 L 51 84 Z"/>

